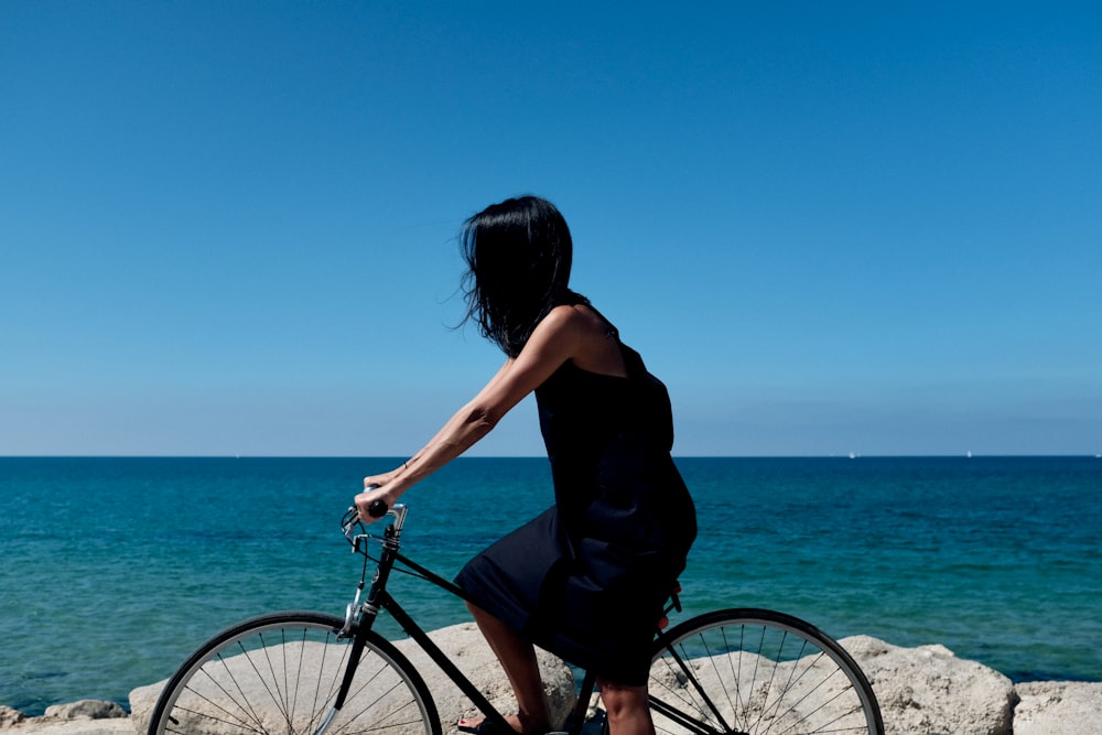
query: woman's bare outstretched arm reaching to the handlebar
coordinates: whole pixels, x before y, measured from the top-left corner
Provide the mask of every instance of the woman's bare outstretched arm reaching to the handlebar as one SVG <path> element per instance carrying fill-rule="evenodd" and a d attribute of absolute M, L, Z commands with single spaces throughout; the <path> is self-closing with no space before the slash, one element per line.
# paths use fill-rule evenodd
<path fill-rule="evenodd" d="M 365 491 L 356 496 L 360 518 L 370 522 L 374 519 L 367 509 L 371 502 L 382 500 L 393 505 L 410 487 L 488 434 L 512 407 L 584 349 L 587 326 L 587 320 L 571 307 L 558 307 L 548 314 L 520 355 L 506 360 L 478 394 L 456 411 L 420 452 L 401 467 L 364 478 Z"/>

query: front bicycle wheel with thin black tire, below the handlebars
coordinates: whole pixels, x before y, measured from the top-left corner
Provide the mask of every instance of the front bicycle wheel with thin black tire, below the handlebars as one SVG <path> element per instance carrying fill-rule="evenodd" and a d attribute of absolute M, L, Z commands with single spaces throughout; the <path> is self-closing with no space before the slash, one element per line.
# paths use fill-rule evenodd
<path fill-rule="evenodd" d="M 333 615 L 285 612 L 223 630 L 169 680 L 149 735 L 441 735 L 424 680 L 374 630 L 344 707 L 333 709 L 352 652 L 352 640 L 337 638 L 343 625 Z"/>

